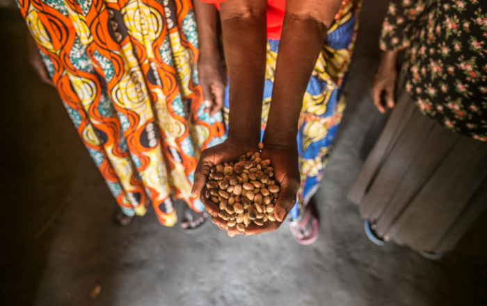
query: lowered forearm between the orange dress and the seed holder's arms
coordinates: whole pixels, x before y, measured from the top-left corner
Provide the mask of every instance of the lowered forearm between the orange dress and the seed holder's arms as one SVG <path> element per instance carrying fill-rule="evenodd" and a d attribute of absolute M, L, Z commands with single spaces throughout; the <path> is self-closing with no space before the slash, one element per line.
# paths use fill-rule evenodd
<path fill-rule="evenodd" d="M 193 1 L 198 24 L 198 44 L 200 59 L 217 58 L 220 60 L 218 51 L 218 10 L 214 4 L 204 3 L 200 0 Z"/>

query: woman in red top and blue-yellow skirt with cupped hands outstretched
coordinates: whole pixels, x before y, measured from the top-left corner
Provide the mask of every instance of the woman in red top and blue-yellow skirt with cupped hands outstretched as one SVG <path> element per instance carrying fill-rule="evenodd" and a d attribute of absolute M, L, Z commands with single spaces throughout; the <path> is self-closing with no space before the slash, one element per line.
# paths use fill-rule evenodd
<path fill-rule="evenodd" d="M 217 11 L 203 2 L 216 3 L 220 10 L 227 94 Z M 212 165 L 257 151 L 262 140 L 262 158 L 271 160 L 282 188 L 276 205 L 279 222 L 271 228 L 249 226 L 245 234 L 276 230 L 289 213 L 294 238 L 311 244 L 318 237 L 318 220 L 308 203 L 319 187 L 345 108 L 360 1 L 196 0 L 195 9 L 201 37 L 198 73 L 205 98 L 224 103 L 229 136 L 202 153 L 195 192 L 203 188 Z M 217 212 L 210 202 L 207 210 Z M 214 222 L 227 228 L 218 217 Z M 227 230 L 231 236 L 240 233 Z"/>

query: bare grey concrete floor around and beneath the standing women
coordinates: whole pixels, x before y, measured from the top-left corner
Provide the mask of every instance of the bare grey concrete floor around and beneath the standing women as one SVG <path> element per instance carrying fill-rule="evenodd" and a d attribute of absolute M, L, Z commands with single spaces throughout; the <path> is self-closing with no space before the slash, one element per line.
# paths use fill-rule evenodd
<path fill-rule="evenodd" d="M 363 6 L 312 246 L 296 244 L 287 226 L 230 239 L 208 223 L 189 235 L 159 226 L 152 210 L 114 226 L 109 189 L 56 92 L 29 66 L 24 21 L 0 9 L 0 305 L 487 305 L 486 213 L 454 251 L 431 261 L 372 244 L 346 200 L 376 113 L 369 79 L 386 2 Z"/>

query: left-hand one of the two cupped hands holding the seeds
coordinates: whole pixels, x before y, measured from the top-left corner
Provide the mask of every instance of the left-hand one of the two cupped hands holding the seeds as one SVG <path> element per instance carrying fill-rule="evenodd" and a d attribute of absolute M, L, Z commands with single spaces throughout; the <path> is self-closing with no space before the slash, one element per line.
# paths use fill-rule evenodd
<path fill-rule="evenodd" d="M 257 143 L 251 144 L 246 139 L 228 137 L 225 142 L 207 148 L 201 152 L 200 161 L 195 169 L 194 183 L 191 193 L 193 195 L 198 195 L 198 193 L 200 193 L 201 202 L 205 205 L 207 212 L 211 214 L 211 219 L 218 226 L 223 223 L 225 223 L 226 226 L 227 221 L 218 218 L 218 206 L 213 203 L 211 199 L 205 197 L 207 189 L 205 183 L 207 182 L 211 167 L 225 162 L 234 162 L 243 154 L 257 151 L 259 151 Z"/>

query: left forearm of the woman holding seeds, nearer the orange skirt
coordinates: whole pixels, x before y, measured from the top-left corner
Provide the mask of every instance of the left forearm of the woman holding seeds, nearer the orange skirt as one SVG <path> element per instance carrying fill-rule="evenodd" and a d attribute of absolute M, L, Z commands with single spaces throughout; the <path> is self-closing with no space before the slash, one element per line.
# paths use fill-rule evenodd
<path fill-rule="evenodd" d="M 230 80 L 228 136 L 260 142 L 266 69 L 266 1 L 221 4 L 223 49 Z"/>

